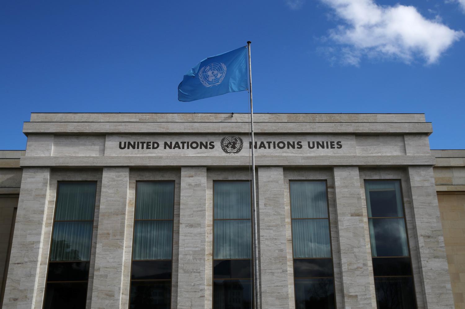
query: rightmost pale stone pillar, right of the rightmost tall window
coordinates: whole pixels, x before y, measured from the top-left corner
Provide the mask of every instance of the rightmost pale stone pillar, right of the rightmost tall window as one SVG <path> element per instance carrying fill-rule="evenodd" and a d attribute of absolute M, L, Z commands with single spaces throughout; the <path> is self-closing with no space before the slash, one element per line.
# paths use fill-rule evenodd
<path fill-rule="evenodd" d="M 409 166 L 414 222 L 417 230 L 420 274 L 426 308 L 453 309 L 451 279 L 431 166 Z M 419 280 L 420 278 L 415 278 Z"/>

